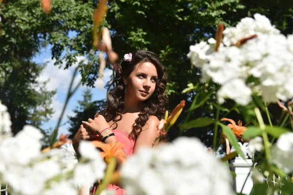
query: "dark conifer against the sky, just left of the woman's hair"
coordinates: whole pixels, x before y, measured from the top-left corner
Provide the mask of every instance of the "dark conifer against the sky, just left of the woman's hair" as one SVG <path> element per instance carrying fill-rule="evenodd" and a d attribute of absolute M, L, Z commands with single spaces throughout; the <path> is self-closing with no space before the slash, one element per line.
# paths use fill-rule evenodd
<path fill-rule="evenodd" d="M 79 105 L 74 109 L 75 116 L 69 117 L 69 138 L 72 139 L 74 137 L 83 120 L 93 118 L 96 113 L 105 107 L 105 99 L 92 101 L 92 96 L 93 94 L 90 89 L 84 90 L 83 100 L 79 100 Z"/>

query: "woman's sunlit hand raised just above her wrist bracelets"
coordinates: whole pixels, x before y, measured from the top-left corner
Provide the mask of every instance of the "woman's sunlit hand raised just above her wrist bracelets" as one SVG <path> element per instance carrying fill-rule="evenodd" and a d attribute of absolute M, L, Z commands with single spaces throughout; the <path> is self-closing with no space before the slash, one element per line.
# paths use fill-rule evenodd
<path fill-rule="evenodd" d="M 83 121 L 82 123 L 96 134 L 100 134 L 101 131 L 109 128 L 109 124 L 102 115 L 98 115 L 94 119 L 88 118 L 87 121 Z"/>

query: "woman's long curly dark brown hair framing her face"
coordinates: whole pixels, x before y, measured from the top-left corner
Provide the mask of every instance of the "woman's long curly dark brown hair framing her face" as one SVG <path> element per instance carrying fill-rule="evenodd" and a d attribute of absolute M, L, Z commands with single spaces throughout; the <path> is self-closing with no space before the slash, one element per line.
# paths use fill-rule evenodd
<path fill-rule="evenodd" d="M 154 93 L 143 102 L 141 113 L 132 125 L 132 131 L 129 136 L 134 140 L 139 136 L 142 127 L 146 124 L 150 116 L 156 116 L 160 120 L 164 117 L 166 112 L 165 106 L 168 102 L 165 94 L 167 84 L 166 68 L 161 64 L 155 53 L 138 50 L 132 53 L 131 61 L 122 60 L 118 65 L 114 66 L 113 80 L 107 90 L 107 104 L 103 112 L 107 122 L 113 120 L 114 124 L 116 123 L 116 127 L 113 128 L 116 129 L 117 121 L 122 119 L 122 110 L 125 105 L 124 97 L 126 85 L 123 82 L 123 77 L 128 77 L 137 64 L 142 64 L 144 62 L 150 62 L 155 65 L 158 80 L 156 81 Z"/>

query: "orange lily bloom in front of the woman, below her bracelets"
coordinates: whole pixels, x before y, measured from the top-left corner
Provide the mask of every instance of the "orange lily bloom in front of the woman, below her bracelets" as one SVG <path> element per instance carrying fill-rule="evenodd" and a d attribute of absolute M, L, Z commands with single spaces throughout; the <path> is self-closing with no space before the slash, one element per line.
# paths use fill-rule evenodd
<path fill-rule="evenodd" d="M 103 152 L 101 152 L 102 158 L 105 158 L 106 162 L 109 162 L 111 157 L 116 157 L 120 159 L 122 162 L 126 160 L 126 154 L 122 151 L 124 144 L 116 141 L 112 143 L 103 143 L 101 141 L 91 141 L 94 146 L 97 148 L 101 148 Z"/>

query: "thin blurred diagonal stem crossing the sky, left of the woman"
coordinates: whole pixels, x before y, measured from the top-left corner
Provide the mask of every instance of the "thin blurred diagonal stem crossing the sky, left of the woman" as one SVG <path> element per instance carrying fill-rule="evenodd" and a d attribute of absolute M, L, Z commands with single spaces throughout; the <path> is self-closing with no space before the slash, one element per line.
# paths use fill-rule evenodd
<path fill-rule="evenodd" d="M 68 101 L 69 101 L 69 99 L 71 98 L 71 96 L 72 96 L 72 94 L 73 94 L 72 91 L 71 91 L 71 88 L 72 88 L 73 81 L 74 81 L 75 75 L 76 75 L 76 73 L 77 73 L 77 70 L 78 70 L 78 67 L 75 68 L 74 73 L 73 73 L 73 76 L 72 76 L 72 78 L 71 78 L 70 85 L 69 85 L 69 88 L 68 88 L 68 91 L 67 91 L 67 97 L 66 97 L 65 103 L 64 103 L 64 105 L 63 105 L 63 109 L 62 109 L 61 115 L 60 115 L 60 117 L 59 117 L 59 119 L 58 119 L 58 122 L 57 122 L 57 125 L 56 125 L 56 127 L 55 127 L 55 130 L 54 130 L 54 132 L 52 133 L 52 138 L 51 138 L 51 141 L 50 141 L 50 147 L 52 147 L 53 144 L 57 141 L 58 129 L 59 129 L 60 123 L 61 123 L 61 121 L 62 121 L 62 118 L 63 118 L 64 112 L 65 112 L 65 110 L 66 110 L 66 107 L 67 107 Z M 80 84 L 79 84 L 79 85 L 80 85 Z M 79 86 L 79 85 L 78 85 L 78 86 Z M 75 92 L 75 91 L 77 90 L 78 86 L 74 89 L 73 92 Z"/>

